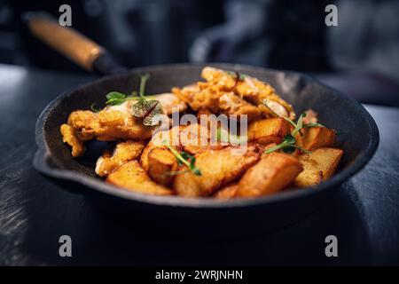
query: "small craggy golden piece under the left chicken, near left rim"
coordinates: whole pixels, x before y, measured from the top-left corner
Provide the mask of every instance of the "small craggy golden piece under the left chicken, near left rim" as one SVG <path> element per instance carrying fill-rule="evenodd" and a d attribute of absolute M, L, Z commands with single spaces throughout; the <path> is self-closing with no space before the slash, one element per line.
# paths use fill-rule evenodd
<path fill-rule="evenodd" d="M 125 162 L 137 160 L 145 147 L 143 141 L 128 140 L 118 143 L 113 152 L 106 152 L 100 156 L 96 163 L 96 173 L 100 177 L 105 177 Z"/>

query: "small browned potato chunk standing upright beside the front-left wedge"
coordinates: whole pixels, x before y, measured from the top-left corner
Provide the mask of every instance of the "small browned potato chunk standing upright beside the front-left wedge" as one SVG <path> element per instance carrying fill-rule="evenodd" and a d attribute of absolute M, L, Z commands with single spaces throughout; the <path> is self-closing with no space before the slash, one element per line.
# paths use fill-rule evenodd
<path fill-rule="evenodd" d="M 148 154 L 148 174 L 161 185 L 170 185 L 173 179 L 170 172 L 176 171 L 177 168 L 175 155 L 166 148 L 153 148 Z"/>

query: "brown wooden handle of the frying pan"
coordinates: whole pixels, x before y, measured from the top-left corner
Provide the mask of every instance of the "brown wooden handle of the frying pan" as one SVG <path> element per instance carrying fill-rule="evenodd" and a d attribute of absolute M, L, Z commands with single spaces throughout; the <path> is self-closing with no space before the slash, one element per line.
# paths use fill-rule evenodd
<path fill-rule="evenodd" d="M 73 28 L 61 27 L 46 14 L 30 12 L 27 16 L 30 32 L 65 55 L 74 63 L 91 71 L 93 62 L 106 50 Z"/>

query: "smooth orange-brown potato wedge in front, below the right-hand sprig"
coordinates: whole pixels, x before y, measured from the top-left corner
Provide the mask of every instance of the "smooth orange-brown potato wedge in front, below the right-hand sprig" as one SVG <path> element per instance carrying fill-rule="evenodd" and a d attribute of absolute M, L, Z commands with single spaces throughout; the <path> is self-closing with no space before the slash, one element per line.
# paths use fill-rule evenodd
<path fill-rule="evenodd" d="M 258 197 L 283 190 L 301 172 L 301 163 L 289 154 L 271 153 L 239 180 L 239 197 Z"/>

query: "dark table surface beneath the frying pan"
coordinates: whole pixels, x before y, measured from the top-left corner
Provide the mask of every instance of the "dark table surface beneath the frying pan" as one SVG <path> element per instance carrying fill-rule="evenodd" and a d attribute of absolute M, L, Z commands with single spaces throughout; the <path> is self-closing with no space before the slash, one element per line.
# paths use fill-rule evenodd
<path fill-rule="evenodd" d="M 377 154 L 317 214 L 247 239 L 176 239 L 122 224 L 33 169 L 43 107 L 90 80 L 0 65 L 0 264 L 399 264 L 399 108 L 366 106 Z M 72 257 L 59 256 L 64 234 Z M 329 234 L 338 257 L 325 256 Z"/>

